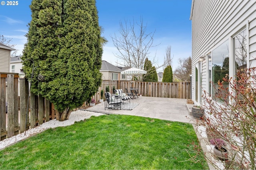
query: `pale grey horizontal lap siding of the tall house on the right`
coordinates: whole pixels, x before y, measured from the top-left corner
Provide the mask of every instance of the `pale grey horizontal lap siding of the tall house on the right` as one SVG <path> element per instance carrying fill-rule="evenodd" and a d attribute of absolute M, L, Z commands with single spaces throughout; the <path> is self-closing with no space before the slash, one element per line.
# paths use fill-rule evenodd
<path fill-rule="evenodd" d="M 192 4 L 192 100 L 197 104 L 195 66 L 200 62 L 200 57 L 230 40 L 242 28 L 248 30 L 248 66 L 256 66 L 256 0 L 193 0 Z M 201 70 L 203 90 L 208 90 L 206 59 L 202 61 Z"/>

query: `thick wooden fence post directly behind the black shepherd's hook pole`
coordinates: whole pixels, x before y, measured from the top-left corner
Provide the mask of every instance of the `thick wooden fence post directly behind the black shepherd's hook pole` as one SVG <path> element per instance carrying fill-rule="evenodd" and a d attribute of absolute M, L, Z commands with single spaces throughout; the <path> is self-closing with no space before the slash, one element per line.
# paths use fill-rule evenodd
<path fill-rule="evenodd" d="M 25 78 L 20 78 L 20 133 L 25 131 L 26 119 L 26 83 Z"/>

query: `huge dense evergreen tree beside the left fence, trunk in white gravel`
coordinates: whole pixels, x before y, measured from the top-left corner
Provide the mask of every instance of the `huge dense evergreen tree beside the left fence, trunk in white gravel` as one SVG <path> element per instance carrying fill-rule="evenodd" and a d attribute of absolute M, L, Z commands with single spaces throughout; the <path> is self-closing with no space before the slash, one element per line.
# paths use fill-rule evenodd
<path fill-rule="evenodd" d="M 60 121 L 89 101 L 101 84 L 102 45 L 95 0 L 32 0 L 32 21 L 24 48 L 35 76 L 31 90 L 46 97 Z M 29 60 L 24 62 L 31 76 Z M 36 77 L 44 76 L 43 81 Z"/>

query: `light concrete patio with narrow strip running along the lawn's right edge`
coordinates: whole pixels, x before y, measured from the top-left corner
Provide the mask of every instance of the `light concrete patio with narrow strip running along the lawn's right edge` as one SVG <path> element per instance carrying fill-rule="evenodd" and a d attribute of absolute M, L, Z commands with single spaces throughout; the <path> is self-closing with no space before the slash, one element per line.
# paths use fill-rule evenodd
<path fill-rule="evenodd" d="M 155 119 L 178 121 L 183 123 L 191 123 L 194 127 L 198 140 L 205 155 L 211 160 L 211 156 L 206 148 L 204 140 L 198 133 L 196 128 L 196 119 L 190 115 L 191 106 L 193 104 L 186 104 L 186 99 L 176 99 L 176 98 L 156 98 L 156 97 L 146 97 L 140 96 L 134 100 L 130 100 L 131 103 L 139 103 L 132 110 L 120 110 L 120 109 L 108 109 L 105 110 L 105 103 L 97 104 L 93 107 L 86 109 L 87 111 L 94 111 L 106 114 L 120 114 L 120 115 L 134 115 L 141 117 L 150 117 Z M 209 168 L 215 169 L 210 163 L 208 163 Z"/>

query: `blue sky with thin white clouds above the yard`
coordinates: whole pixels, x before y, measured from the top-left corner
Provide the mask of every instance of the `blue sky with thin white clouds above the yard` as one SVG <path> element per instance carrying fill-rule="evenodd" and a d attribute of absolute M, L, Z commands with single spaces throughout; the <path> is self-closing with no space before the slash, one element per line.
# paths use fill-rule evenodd
<path fill-rule="evenodd" d="M 2 0 L 1 0 L 2 1 Z M 7 1 L 4 0 L 4 2 Z M 0 35 L 12 38 L 16 44 L 18 55 L 22 55 L 31 21 L 30 0 L 19 0 L 17 6 L 0 5 Z M 191 56 L 191 21 L 190 10 L 192 0 L 96 0 L 99 24 L 104 28 L 104 36 L 108 43 L 104 46 L 102 60 L 116 65 L 120 59 L 114 57 L 117 53 L 111 36 L 119 35 L 119 23 L 124 20 L 140 21 L 147 24 L 147 33 L 155 31 L 153 45 L 148 58 L 153 60 L 156 56 L 158 65 L 164 60 L 165 50 L 170 45 L 173 59 L 173 70 L 179 58 Z M 159 44 L 159 45 L 158 45 Z M 156 63 L 157 64 L 157 63 Z M 157 66 L 156 66 L 157 67 Z M 158 71 L 161 71 L 159 68 Z"/>

